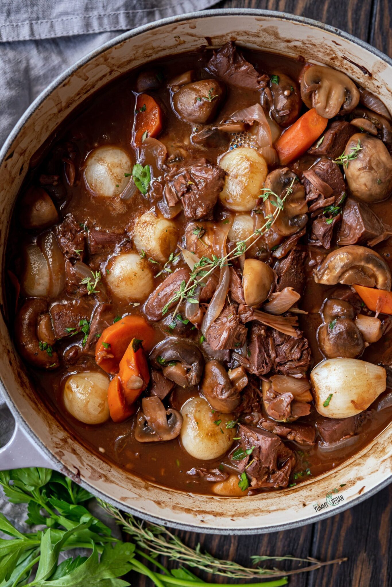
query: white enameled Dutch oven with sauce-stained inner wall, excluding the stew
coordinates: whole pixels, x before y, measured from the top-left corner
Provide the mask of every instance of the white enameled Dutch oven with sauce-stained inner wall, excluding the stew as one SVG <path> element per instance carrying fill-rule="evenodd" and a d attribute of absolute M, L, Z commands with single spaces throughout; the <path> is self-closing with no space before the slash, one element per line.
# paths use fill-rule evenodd
<path fill-rule="evenodd" d="M 392 60 L 347 33 L 298 16 L 215 10 L 175 16 L 119 36 L 64 72 L 26 110 L 0 152 L 0 247 L 4 272 L 9 220 L 29 159 L 86 97 L 149 60 L 232 39 L 248 48 L 302 55 L 346 72 L 392 110 Z M 4 283 L 4 282 L 3 282 Z M 253 497 L 194 495 L 159 487 L 82 446 L 37 400 L 10 339 L 0 291 L 0 377 L 16 428 L 0 468 L 33 465 L 70 475 L 106 501 L 172 527 L 220 534 L 268 532 L 314 522 L 359 503 L 392 480 L 392 424 L 356 456 L 298 487 Z M 317 505 L 318 504 L 318 505 Z"/>

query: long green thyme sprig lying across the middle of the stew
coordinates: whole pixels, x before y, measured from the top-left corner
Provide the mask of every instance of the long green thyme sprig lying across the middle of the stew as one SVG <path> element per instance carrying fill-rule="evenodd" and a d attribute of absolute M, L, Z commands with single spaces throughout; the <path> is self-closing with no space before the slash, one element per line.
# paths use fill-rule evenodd
<path fill-rule="evenodd" d="M 235 259 L 236 257 L 240 257 L 240 255 L 244 255 L 246 251 L 253 247 L 253 245 L 260 239 L 270 228 L 273 226 L 274 222 L 276 221 L 277 217 L 279 216 L 280 212 L 283 210 L 284 201 L 286 200 L 289 195 L 293 193 L 293 185 L 295 181 L 299 181 L 297 177 L 293 177 L 292 182 L 290 183 L 289 187 L 286 189 L 286 193 L 283 197 L 280 197 L 272 190 L 267 190 L 264 188 L 262 191 L 264 192 L 262 195 L 263 201 L 270 199 L 271 204 L 276 208 L 273 214 L 267 214 L 265 217 L 266 222 L 263 224 L 261 228 L 257 228 L 249 237 L 244 239 L 243 241 L 237 241 L 236 247 L 225 255 L 225 257 L 217 257 L 217 255 L 212 255 L 212 259 L 209 257 L 203 257 L 200 261 L 197 261 L 193 266 L 192 272 L 190 274 L 188 282 L 185 280 L 181 283 L 180 289 L 177 290 L 172 298 L 169 299 L 169 302 L 162 309 L 162 315 L 165 315 L 167 310 L 173 303 L 177 303 L 175 312 L 173 315 L 177 314 L 177 311 L 180 307 L 180 304 L 186 300 L 190 303 L 197 303 L 197 299 L 195 299 L 195 293 L 197 286 L 203 286 L 201 279 L 204 279 L 212 274 L 216 268 L 222 268 L 226 265 L 229 265 L 229 262 Z M 272 197 L 274 199 L 272 199 Z M 196 230 L 196 229 L 195 229 Z M 195 232 L 196 234 L 196 232 Z M 197 236 L 199 235 L 199 231 L 197 231 Z M 256 237 L 256 238 L 254 238 Z M 200 238 L 198 236 L 198 238 Z M 247 244 L 249 241 L 250 244 Z"/>

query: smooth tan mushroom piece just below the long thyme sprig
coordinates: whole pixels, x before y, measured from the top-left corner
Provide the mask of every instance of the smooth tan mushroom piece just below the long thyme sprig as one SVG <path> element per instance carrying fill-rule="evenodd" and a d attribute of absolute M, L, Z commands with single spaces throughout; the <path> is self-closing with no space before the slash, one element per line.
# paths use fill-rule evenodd
<path fill-rule="evenodd" d="M 260 306 L 271 294 L 276 274 L 259 259 L 245 259 L 242 286 L 247 306 Z"/>

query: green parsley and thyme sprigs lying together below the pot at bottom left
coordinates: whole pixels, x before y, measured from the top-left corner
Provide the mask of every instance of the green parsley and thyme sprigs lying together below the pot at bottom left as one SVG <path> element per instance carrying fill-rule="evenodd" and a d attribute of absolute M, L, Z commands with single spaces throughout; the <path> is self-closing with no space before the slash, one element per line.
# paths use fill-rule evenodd
<path fill-rule="evenodd" d="M 255 565 L 290 560 L 307 566 L 290 571 L 263 566 L 247 568 L 202 552 L 200 545 L 190 548 L 169 529 L 145 524 L 98 500 L 103 512 L 129 535 L 130 541 L 123 542 L 113 537 L 110 528 L 87 509 L 93 496 L 55 471 L 38 467 L 3 471 L 0 484 L 9 501 L 27 504 L 26 522 L 38 527 L 31 532 L 19 532 L 0 514 L 0 531 L 12 538 L 0 538 L 0 587 L 128 587 L 130 583 L 119 577 L 130 571 L 148 576 L 156 587 L 212 585 L 183 565 L 231 580 L 271 578 L 272 581 L 252 585 L 280 587 L 287 584 L 287 575 L 345 560 L 320 562 L 311 558 L 254 555 L 251 559 Z M 91 555 L 71 555 L 59 563 L 61 553 L 75 548 L 89 549 Z M 178 568 L 169 571 L 157 560 L 160 555 L 176 561 Z M 158 570 L 152 570 L 140 559 Z M 239 584 L 244 583 L 230 582 Z"/>

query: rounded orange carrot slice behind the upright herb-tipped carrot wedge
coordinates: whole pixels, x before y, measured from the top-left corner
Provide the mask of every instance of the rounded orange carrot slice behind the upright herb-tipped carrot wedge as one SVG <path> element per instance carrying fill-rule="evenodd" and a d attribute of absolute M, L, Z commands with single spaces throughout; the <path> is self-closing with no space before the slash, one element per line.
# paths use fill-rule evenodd
<path fill-rule="evenodd" d="M 133 338 L 143 340 L 147 351 L 158 342 L 155 330 L 142 316 L 124 316 L 100 335 L 95 348 L 96 364 L 106 373 L 118 373 L 120 360 Z"/>

